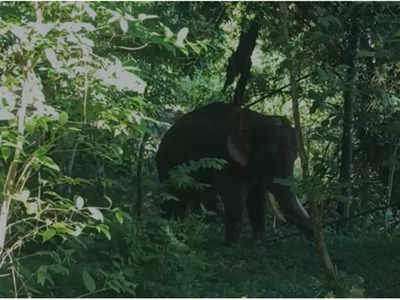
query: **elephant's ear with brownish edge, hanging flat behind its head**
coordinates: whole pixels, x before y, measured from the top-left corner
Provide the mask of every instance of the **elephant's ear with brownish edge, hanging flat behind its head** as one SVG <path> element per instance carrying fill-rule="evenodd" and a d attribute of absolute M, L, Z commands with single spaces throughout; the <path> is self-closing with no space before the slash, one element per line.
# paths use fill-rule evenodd
<path fill-rule="evenodd" d="M 245 167 L 249 161 L 249 128 L 246 116 L 242 109 L 235 107 L 229 118 L 231 132 L 227 137 L 226 145 L 231 158 Z"/>

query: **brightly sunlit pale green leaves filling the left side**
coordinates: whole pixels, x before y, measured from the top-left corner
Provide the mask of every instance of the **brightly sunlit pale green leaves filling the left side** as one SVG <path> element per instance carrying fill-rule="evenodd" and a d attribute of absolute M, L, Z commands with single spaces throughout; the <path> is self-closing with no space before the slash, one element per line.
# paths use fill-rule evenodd
<path fill-rule="evenodd" d="M 10 14 L 0 18 L 0 66 L 6 71 L 0 76 L 0 267 L 16 279 L 10 291 L 17 296 L 19 288 L 25 289 L 25 278 L 16 276 L 22 274 L 13 262 L 16 249 L 38 237 L 42 242 L 77 238 L 87 229 L 110 239 L 102 211 L 115 213 L 122 221 L 121 211 L 112 208 L 105 193 L 101 195 L 108 203 L 105 207 L 88 204 L 95 195 L 73 193 L 74 185 L 93 181 L 78 178 L 72 169 L 80 146 L 94 147 L 85 136 L 87 127 L 124 135 L 125 143 L 141 132 L 143 112 L 137 103 L 147 84 L 137 75 L 140 70 L 118 57 L 97 55 L 95 41 L 116 23 L 122 33 L 127 33 L 129 24 L 145 30 L 143 24 L 156 16 L 132 17 L 88 3 L 2 3 L 1 8 Z M 175 35 L 160 26 L 161 32 L 146 35 L 154 37 L 149 42 L 174 51 L 183 48 L 187 28 Z M 115 107 L 100 113 L 112 107 L 112 96 L 121 93 L 129 110 Z M 124 122 L 117 122 L 119 118 Z M 68 158 L 57 154 L 70 145 Z M 111 145 L 97 148 L 95 157 L 115 163 L 121 152 L 115 154 Z M 67 269 L 44 265 L 38 269 L 39 283 L 51 283 L 51 277 L 44 279 L 51 271 L 63 276 Z M 83 278 L 91 286 L 89 273 Z"/>

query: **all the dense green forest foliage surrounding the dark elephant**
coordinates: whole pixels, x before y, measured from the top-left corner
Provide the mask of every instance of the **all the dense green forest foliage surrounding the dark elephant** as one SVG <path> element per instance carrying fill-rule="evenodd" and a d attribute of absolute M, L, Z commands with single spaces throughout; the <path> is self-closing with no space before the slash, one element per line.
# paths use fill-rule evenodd
<path fill-rule="evenodd" d="M 399 17 L 382 2 L 0 3 L 0 296 L 398 296 Z M 231 102 L 254 20 L 243 102 L 296 125 L 296 192 L 334 285 L 272 215 L 265 242 L 226 247 L 219 216 L 160 214 L 158 144 L 183 113 Z M 190 172 L 223 164 L 168 184 L 201 189 Z"/>

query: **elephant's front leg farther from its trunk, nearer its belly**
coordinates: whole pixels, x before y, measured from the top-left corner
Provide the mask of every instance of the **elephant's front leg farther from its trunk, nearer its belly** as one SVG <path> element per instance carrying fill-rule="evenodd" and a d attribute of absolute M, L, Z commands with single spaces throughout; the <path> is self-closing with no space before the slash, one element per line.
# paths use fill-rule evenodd
<path fill-rule="evenodd" d="M 223 178 L 221 183 L 219 190 L 225 207 L 225 243 L 231 244 L 240 236 L 247 188 L 236 178 Z"/>

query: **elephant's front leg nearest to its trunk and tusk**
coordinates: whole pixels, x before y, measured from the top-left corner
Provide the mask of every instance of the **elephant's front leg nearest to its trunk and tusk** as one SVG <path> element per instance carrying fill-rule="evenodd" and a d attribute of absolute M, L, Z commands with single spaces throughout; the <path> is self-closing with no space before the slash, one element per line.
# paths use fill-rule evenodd
<path fill-rule="evenodd" d="M 265 193 L 265 186 L 256 184 L 249 189 L 247 197 L 247 213 L 255 240 L 262 239 L 265 234 Z"/>

